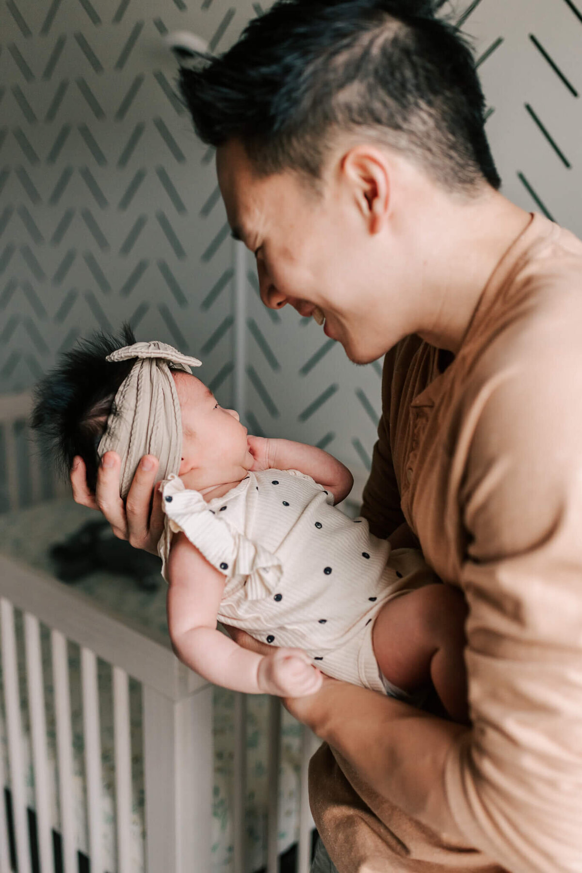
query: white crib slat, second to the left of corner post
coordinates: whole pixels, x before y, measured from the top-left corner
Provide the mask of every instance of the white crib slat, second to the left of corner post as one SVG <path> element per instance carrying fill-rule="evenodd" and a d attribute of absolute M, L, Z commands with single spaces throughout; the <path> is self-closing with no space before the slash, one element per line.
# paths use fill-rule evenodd
<path fill-rule="evenodd" d="M 94 652 L 86 648 L 81 649 L 81 684 L 83 687 L 83 731 L 85 734 L 89 857 L 91 859 L 92 873 L 103 873 L 103 857 L 101 855 L 101 743 L 97 657 Z"/>

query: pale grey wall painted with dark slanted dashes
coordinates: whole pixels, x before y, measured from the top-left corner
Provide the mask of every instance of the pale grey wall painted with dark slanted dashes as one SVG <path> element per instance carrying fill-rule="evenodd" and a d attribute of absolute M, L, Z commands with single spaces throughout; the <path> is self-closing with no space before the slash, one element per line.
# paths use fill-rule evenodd
<path fill-rule="evenodd" d="M 503 190 L 582 235 L 582 14 L 572 0 L 445 3 L 475 38 Z M 211 149 L 172 91 L 161 38 L 221 52 L 247 0 L 3 0 L 0 392 L 33 384 L 95 327 L 204 361 L 250 430 L 369 463 L 380 362 L 356 368 L 289 307 L 261 305 L 229 237 Z M 460 253 L 462 255 L 462 253 Z"/>

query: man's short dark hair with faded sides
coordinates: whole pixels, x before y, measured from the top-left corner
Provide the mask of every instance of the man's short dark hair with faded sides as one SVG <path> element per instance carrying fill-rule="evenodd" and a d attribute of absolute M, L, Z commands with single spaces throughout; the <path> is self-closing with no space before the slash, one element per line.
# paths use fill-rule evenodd
<path fill-rule="evenodd" d="M 317 180 L 334 137 L 365 133 L 453 191 L 498 188 L 468 42 L 438 0 L 278 0 L 219 57 L 180 72 L 202 141 L 237 139 L 259 175 Z"/>

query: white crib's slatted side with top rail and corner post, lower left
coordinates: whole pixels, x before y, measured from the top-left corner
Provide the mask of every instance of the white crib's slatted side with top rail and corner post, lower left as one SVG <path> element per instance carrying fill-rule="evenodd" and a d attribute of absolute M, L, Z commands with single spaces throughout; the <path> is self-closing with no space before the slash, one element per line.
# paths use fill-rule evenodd
<path fill-rule="evenodd" d="M 150 873 L 186 873 L 192 858 L 210 870 L 212 761 L 211 686 L 177 661 L 168 643 L 127 627 L 77 591 L 38 571 L 0 556 L 0 639 L 4 710 L 9 746 L 10 793 L 17 870 L 31 873 L 31 847 L 22 760 L 14 609 L 24 614 L 26 671 L 38 820 L 38 856 L 42 873 L 53 873 L 48 815 L 45 699 L 39 624 L 51 629 L 51 665 L 55 691 L 58 748 L 58 805 L 63 873 L 78 873 L 72 829 L 71 705 L 67 641 L 81 651 L 87 821 L 92 873 L 105 870 L 100 849 L 100 749 L 97 658 L 113 668 L 113 732 L 118 873 L 134 873 L 131 863 L 131 751 L 128 677 L 142 684 L 144 787 L 146 794 L 146 868 Z M 0 773 L 0 775 L 2 775 Z M 6 814 L 6 811 L 4 810 Z M 3 815 L 4 822 L 6 815 Z M 6 829 L 0 839 L 0 871 L 8 873 Z"/>

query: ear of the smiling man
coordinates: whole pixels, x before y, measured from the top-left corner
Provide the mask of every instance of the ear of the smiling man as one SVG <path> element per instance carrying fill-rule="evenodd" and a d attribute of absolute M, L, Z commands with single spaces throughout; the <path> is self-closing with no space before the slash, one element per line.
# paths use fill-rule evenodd
<path fill-rule="evenodd" d="M 372 145 L 354 146 L 341 162 L 349 186 L 370 233 L 380 233 L 390 211 L 390 172 L 386 155 Z"/>

